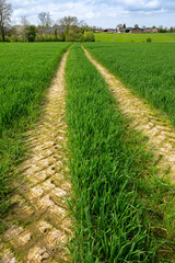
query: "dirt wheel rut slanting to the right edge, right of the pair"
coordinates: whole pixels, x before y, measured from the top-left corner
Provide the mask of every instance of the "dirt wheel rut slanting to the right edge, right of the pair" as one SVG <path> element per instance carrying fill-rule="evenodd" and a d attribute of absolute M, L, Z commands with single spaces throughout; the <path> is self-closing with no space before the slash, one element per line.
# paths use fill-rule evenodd
<path fill-rule="evenodd" d="M 154 163 L 159 169 L 158 174 L 175 182 L 175 128 L 167 116 L 158 110 L 152 110 L 144 100 L 135 96 L 129 89 L 93 59 L 88 50 L 84 49 L 84 52 L 104 77 L 120 110 L 130 117 L 130 125 L 149 138 L 149 145 L 154 152 Z"/>

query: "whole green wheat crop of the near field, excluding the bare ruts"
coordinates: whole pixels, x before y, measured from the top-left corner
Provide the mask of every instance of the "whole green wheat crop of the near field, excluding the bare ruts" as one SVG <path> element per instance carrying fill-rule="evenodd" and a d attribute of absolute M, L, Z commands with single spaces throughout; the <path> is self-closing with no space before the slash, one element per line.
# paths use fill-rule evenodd
<path fill-rule="evenodd" d="M 95 36 L 102 42 L 114 37 Z M 121 35 L 116 37 L 120 38 L 112 41 L 124 41 Z M 131 37 L 125 42 L 132 42 Z M 145 42 L 139 37 L 138 42 Z M 156 42 L 158 36 L 151 37 Z M 175 125 L 175 37 L 165 37 L 159 34 L 161 43 L 83 46 Z M 68 204 L 74 236 L 68 247 L 72 262 L 174 262 L 175 187 L 156 176 L 145 138 L 128 130 L 128 118 L 80 43 L 0 44 L 0 220 L 11 206 L 13 182 L 19 181 L 26 132 L 42 117 L 49 83 L 68 48 L 66 122 L 72 183 Z M 166 235 L 160 229 L 166 229 Z"/>

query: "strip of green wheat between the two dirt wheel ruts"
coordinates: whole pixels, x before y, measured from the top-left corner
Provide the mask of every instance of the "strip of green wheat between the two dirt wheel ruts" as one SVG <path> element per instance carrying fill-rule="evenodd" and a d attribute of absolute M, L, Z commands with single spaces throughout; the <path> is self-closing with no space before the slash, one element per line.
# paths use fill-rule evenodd
<path fill-rule="evenodd" d="M 72 262 L 166 262 L 174 244 L 174 214 L 165 216 L 174 204 L 173 186 L 153 176 L 151 155 L 126 129 L 107 84 L 79 44 L 71 47 L 66 76 Z M 158 247 L 166 260 L 158 260 Z"/>

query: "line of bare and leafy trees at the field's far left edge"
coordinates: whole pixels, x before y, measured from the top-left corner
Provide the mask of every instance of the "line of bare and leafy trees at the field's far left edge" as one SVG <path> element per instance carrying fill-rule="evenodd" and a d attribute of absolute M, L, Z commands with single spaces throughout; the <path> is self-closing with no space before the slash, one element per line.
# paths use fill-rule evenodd
<path fill-rule="evenodd" d="M 90 27 L 75 16 L 65 16 L 56 22 L 49 12 L 40 12 L 38 25 L 32 25 L 25 16 L 21 24 L 11 26 L 12 7 L 7 0 L 0 0 L 1 41 L 9 42 L 94 42 L 95 27 Z"/>

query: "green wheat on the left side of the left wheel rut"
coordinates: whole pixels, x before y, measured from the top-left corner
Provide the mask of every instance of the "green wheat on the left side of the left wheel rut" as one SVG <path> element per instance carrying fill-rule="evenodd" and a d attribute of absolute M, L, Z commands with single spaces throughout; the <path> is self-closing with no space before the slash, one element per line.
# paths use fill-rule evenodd
<path fill-rule="evenodd" d="M 0 44 L 0 218 L 24 155 L 24 132 L 37 119 L 44 90 L 69 45 Z"/>

